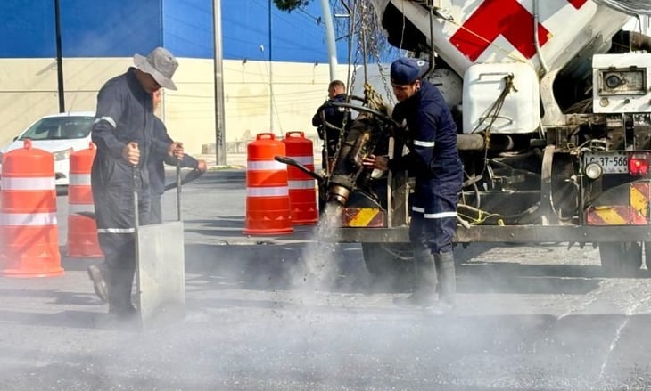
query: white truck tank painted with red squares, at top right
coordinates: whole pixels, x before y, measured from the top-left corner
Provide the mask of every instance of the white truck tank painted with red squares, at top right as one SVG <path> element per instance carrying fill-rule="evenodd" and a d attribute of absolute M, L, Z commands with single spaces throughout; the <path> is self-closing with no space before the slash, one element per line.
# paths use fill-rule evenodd
<path fill-rule="evenodd" d="M 429 44 L 430 17 L 423 2 L 372 0 L 385 15 L 404 14 Z M 433 20 L 436 53 L 457 74 L 478 62 L 523 62 L 537 74 L 563 68 L 581 55 L 604 53 L 630 19 L 592 0 L 434 0 L 444 17 Z M 446 20 L 445 17 L 448 17 Z M 395 21 L 395 20 L 394 20 Z M 537 34 L 533 34 L 534 29 Z M 400 31 L 396 32 L 400 36 Z"/>

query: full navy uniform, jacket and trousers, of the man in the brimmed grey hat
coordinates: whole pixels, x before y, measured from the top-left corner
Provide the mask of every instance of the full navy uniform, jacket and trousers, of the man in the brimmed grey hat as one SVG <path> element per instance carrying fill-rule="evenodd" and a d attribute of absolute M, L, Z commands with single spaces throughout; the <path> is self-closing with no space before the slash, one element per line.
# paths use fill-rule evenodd
<path fill-rule="evenodd" d="M 152 95 L 144 91 L 130 68 L 107 81 L 97 94 L 91 137 L 97 153 L 91 169 L 95 218 L 110 284 L 126 301 L 136 267 L 134 191 L 138 194 L 140 224 L 149 218 L 149 173 L 152 151 L 167 151 L 153 140 Z M 124 147 L 138 144 L 140 161 L 132 167 L 122 157 Z M 112 289 L 111 288 L 111 289 Z"/>

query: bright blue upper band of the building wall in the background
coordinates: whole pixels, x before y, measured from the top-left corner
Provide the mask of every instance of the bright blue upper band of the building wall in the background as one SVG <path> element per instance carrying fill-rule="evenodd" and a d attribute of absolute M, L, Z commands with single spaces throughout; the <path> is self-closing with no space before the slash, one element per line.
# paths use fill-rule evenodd
<path fill-rule="evenodd" d="M 212 58 L 212 0 L 60 0 L 64 57 L 129 57 L 164 45 L 179 57 Z M 320 2 L 280 12 L 268 0 L 221 0 L 227 60 L 327 62 Z M 54 0 L 1 0 L 0 57 L 56 55 Z M 271 45 L 269 50 L 269 31 Z M 260 50 L 260 45 L 264 50 Z M 337 43 L 346 61 L 346 42 Z"/>

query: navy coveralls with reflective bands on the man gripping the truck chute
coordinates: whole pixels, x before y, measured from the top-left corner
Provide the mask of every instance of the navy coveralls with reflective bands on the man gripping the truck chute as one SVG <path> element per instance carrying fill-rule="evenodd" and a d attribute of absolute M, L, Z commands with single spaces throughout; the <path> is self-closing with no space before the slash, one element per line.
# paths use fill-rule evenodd
<path fill-rule="evenodd" d="M 452 251 L 457 228 L 457 198 L 463 167 L 457 150 L 457 126 L 439 90 L 421 82 L 421 88 L 396 104 L 392 118 L 408 126 L 407 155 L 389 162 L 416 177 L 410 196 L 409 239 L 433 254 Z"/>

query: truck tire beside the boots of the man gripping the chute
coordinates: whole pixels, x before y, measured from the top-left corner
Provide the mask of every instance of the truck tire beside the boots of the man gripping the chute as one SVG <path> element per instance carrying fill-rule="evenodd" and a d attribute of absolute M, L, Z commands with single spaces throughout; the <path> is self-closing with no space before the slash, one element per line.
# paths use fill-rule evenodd
<path fill-rule="evenodd" d="M 410 243 L 362 243 L 362 255 L 374 290 L 411 289 L 414 255 Z"/>

